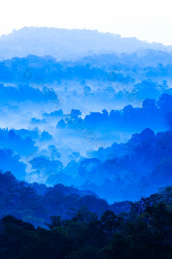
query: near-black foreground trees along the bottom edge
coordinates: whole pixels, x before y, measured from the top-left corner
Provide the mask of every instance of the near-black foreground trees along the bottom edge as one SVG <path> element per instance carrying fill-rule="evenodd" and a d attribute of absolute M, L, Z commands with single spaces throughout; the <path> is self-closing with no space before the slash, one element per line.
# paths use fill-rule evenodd
<path fill-rule="evenodd" d="M 78 209 L 72 219 L 51 217 L 46 228 L 8 215 L 0 221 L 2 259 L 172 258 L 172 188 L 131 204 L 130 213 L 101 217 Z"/>

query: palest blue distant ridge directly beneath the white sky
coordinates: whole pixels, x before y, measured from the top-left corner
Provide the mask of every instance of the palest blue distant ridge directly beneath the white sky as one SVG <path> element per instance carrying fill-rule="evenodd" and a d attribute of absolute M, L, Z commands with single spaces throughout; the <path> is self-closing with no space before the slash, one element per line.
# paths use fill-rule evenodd
<path fill-rule="evenodd" d="M 172 51 L 172 46 L 147 43 L 137 38 L 87 29 L 24 27 L 0 38 L 0 57 L 25 57 L 29 54 L 52 55 L 57 60 L 102 53 L 131 53 L 143 49 Z"/>

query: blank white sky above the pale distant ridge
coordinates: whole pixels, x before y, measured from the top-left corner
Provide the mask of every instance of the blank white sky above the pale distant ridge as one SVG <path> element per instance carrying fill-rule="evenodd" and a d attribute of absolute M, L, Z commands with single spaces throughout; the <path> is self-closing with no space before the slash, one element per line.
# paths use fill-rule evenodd
<path fill-rule="evenodd" d="M 171 0 L 1 0 L 0 35 L 24 26 L 87 28 L 172 45 Z"/>

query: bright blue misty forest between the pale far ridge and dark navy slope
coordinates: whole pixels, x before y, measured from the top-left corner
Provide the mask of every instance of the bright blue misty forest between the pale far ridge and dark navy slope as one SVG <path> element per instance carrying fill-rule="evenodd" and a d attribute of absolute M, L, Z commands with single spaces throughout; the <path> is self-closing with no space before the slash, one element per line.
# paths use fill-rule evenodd
<path fill-rule="evenodd" d="M 171 181 L 170 62 L 159 50 L 1 61 L 0 168 L 110 203 L 156 192 Z"/>

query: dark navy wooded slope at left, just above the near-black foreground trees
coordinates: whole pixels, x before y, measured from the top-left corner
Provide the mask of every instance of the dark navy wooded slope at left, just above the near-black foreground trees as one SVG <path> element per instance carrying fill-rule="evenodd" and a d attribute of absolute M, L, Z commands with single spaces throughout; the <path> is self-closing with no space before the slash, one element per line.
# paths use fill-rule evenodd
<path fill-rule="evenodd" d="M 77 209 L 85 206 L 99 216 L 106 210 L 116 214 L 130 210 L 129 201 L 109 205 L 88 190 L 79 191 L 63 184 L 48 188 L 45 184 L 19 181 L 11 172 L 0 172 L 0 218 L 11 214 L 34 226 L 45 226 L 51 216 L 71 218 Z"/>

